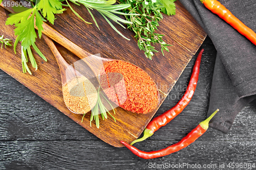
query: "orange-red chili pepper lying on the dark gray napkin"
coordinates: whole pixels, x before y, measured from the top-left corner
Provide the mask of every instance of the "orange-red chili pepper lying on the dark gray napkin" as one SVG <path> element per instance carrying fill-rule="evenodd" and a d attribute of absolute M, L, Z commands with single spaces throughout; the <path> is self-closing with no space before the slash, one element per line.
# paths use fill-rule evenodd
<path fill-rule="evenodd" d="M 256 45 L 256 33 L 244 25 L 236 16 L 234 16 L 228 9 L 226 9 L 220 2 L 216 0 L 200 0 L 206 8 L 211 12 L 219 15 L 227 23 L 229 23 L 240 34 L 244 35 L 253 44 Z"/>

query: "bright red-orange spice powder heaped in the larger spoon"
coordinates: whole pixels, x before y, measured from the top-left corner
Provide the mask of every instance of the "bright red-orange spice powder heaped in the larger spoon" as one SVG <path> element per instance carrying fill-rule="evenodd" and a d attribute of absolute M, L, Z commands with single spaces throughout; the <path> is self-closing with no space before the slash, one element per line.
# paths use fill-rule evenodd
<path fill-rule="evenodd" d="M 111 101 L 125 110 L 143 114 L 157 107 L 157 86 L 144 70 L 121 60 L 108 61 L 103 66 L 100 85 Z"/>

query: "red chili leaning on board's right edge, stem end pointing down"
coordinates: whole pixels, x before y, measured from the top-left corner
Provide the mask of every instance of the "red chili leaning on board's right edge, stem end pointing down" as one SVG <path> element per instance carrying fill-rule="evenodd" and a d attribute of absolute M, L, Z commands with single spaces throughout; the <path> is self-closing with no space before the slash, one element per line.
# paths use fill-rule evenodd
<path fill-rule="evenodd" d="M 204 49 L 202 49 L 198 54 L 187 89 L 184 95 L 182 96 L 181 100 L 172 109 L 167 110 L 163 114 L 153 118 L 151 122 L 147 124 L 143 132 L 143 137 L 134 140 L 131 143 L 131 145 L 133 145 L 136 142 L 143 141 L 146 138 L 152 136 L 154 132 L 156 132 L 159 128 L 168 124 L 170 120 L 174 119 L 174 117 L 180 114 L 183 111 L 183 109 L 188 105 L 197 87 L 197 81 L 198 81 L 198 76 L 200 71 L 200 63 L 201 63 L 203 52 L 204 52 Z"/>

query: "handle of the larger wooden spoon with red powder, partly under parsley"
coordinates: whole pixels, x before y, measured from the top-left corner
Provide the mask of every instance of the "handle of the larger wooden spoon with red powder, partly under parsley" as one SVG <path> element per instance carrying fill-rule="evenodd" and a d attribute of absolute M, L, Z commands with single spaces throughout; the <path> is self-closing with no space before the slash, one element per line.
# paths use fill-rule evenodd
<path fill-rule="evenodd" d="M 10 2 L 14 2 L 12 0 L 9 0 L 9 1 Z M 15 13 L 11 7 L 7 7 L 7 6 L 4 7 L 3 3 L 0 6 L 5 8 L 7 11 L 9 11 L 11 13 Z M 35 22 L 35 19 L 34 19 L 34 22 Z M 79 47 L 75 43 L 73 43 L 72 41 L 70 41 L 65 36 L 61 35 L 59 32 L 54 30 L 47 23 L 44 22 L 43 25 L 42 25 L 42 28 L 44 28 L 42 33 L 44 33 L 45 35 L 47 35 L 49 38 L 51 38 L 52 40 L 56 41 L 60 45 L 66 47 L 69 51 L 71 51 L 73 54 L 75 54 L 80 59 L 92 55 L 92 54 L 88 53 L 87 51 L 83 50 L 81 47 Z M 38 28 L 36 26 L 35 26 L 35 29 L 38 30 Z"/>

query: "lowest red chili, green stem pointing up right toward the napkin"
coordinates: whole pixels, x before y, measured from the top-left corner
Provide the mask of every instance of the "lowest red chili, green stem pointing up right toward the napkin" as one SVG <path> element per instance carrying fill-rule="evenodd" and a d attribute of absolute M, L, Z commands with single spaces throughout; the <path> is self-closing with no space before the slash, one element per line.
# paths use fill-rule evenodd
<path fill-rule="evenodd" d="M 132 145 L 126 143 L 125 141 L 121 141 L 122 144 L 125 145 L 126 148 L 128 148 L 132 153 L 135 155 L 143 158 L 143 159 L 152 159 L 152 158 L 158 158 L 165 155 L 172 154 L 174 152 L 177 152 L 185 147 L 187 147 L 189 144 L 193 143 L 197 138 L 202 136 L 206 132 L 209 126 L 210 119 L 219 111 L 217 109 L 214 113 L 212 113 L 207 119 L 205 119 L 203 122 L 201 122 L 195 129 L 193 129 L 191 132 L 189 132 L 184 138 L 182 138 L 178 143 L 175 143 L 173 145 L 170 145 L 169 147 L 159 150 L 159 151 L 151 151 L 151 152 L 144 152 L 140 151 L 137 148 L 133 147 Z"/>

